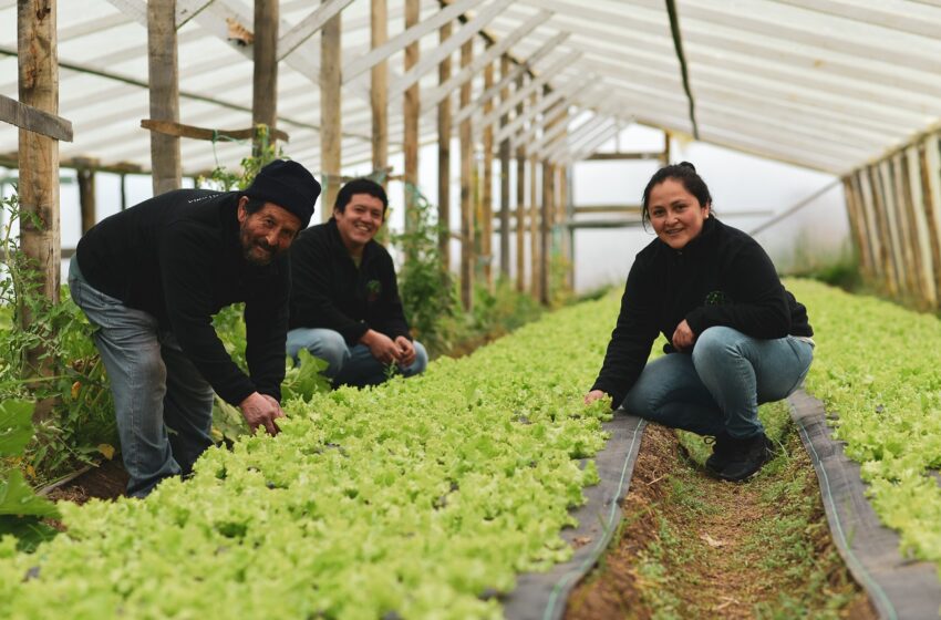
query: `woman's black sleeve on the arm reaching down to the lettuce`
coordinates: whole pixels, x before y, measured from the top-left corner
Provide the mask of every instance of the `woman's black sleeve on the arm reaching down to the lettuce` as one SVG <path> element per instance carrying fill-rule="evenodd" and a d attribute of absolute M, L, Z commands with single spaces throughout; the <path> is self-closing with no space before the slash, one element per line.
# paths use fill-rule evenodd
<path fill-rule="evenodd" d="M 620 406 L 647 365 L 656 338 L 656 294 L 652 273 L 634 261 L 628 275 L 618 324 L 592 390 L 610 394 L 611 409 Z"/>

